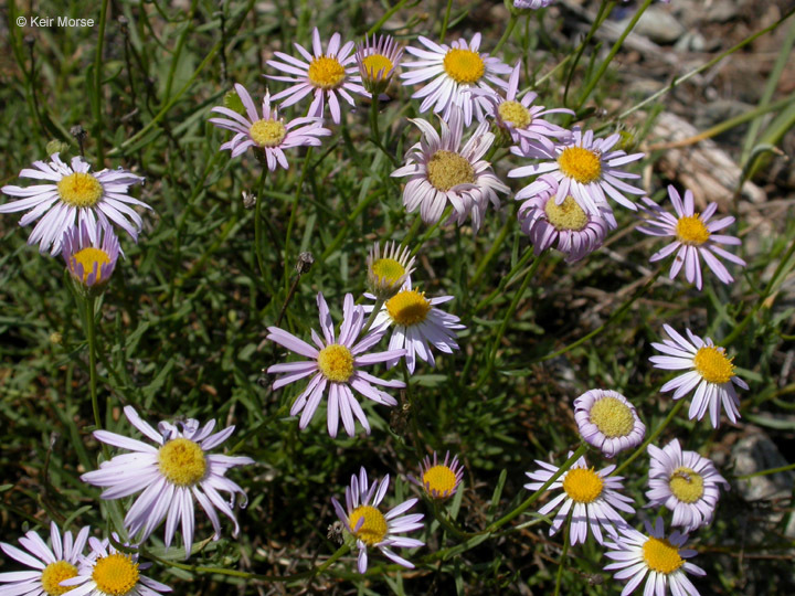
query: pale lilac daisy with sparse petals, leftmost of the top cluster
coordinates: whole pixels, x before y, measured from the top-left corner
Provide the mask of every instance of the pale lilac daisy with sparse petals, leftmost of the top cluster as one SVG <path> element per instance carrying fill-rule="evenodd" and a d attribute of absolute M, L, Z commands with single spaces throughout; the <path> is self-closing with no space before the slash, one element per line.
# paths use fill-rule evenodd
<path fill-rule="evenodd" d="M 250 147 L 264 156 L 268 170 L 272 172 L 279 166 L 285 170 L 289 167 L 284 150 L 293 147 L 319 147 L 320 138 L 331 134 L 324 128 L 321 118 L 294 118 L 285 124 L 284 118 L 278 117 L 276 108 L 271 107 L 271 93 L 265 93 L 262 105 L 262 118 L 257 111 L 254 100 L 248 92 L 241 84 L 235 84 L 235 92 L 240 97 L 246 116 L 241 116 L 235 110 L 223 106 L 216 106 L 210 111 L 225 116 L 225 118 L 210 118 L 209 121 L 219 128 L 232 130 L 235 136 L 221 146 L 221 150 L 229 149 L 232 157 L 237 157 Z"/>

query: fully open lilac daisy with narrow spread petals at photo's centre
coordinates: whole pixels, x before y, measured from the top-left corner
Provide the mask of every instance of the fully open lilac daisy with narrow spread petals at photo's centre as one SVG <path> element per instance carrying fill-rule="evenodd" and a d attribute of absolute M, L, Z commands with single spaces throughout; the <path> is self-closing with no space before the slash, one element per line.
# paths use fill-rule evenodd
<path fill-rule="evenodd" d="M 398 401 L 389 393 L 385 393 L 373 385 L 402 389 L 405 383 L 402 381 L 384 381 L 369 374 L 361 369 L 378 362 L 399 360 L 405 354 L 405 350 L 390 349 L 385 352 L 365 353 L 375 345 L 383 337 L 383 331 L 372 329 L 363 338 L 359 339 L 364 327 L 364 310 L 353 304 L 353 296 L 347 294 L 342 307 L 342 327 L 338 337 L 335 337 L 331 315 L 322 294 L 317 297 L 318 311 L 320 315 L 320 328 L 324 333 L 321 339 L 312 329 L 312 341 L 317 345 L 310 345 L 278 327 L 268 327 L 267 339 L 284 345 L 288 350 L 308 358 L 299 362 L 287 362 L 274 364 L 268 368 L 268 374 L 286 373 L 274 383 L 274 390 L 294 383 L 299 379 L 312 375 L 304 393 L 293 404 L 290 416 L 301 413 L 298 427 L 304 429 L 311 421 L 328 387 L 329 401 L 327 424 L 331 437 L 337 436 L 339 419 L 342 418 L 342 426 L 348 436 L 353 436 L 356 416 L 361 425 L 370 434 L 370 423 L 364 411 L 353 396 L 351 390 L 356 390 L 364 397 L 388 406 L 398 405 Z M 357 341 L 358 340 L 358 341 Z"/>

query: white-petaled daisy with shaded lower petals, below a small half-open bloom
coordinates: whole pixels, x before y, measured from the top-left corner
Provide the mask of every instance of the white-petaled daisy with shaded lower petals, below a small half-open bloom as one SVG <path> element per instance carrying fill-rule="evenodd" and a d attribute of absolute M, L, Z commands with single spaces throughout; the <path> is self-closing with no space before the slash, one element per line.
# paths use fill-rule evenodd
<path fill-rule="evenodd" d="M 375 299 L 372 294 L 365 294 L 364 297 L 371 300 Z M 455 315 L 435 308 L 437 305 L 449 302 L 455 296 L 427 299 L 424 291 L 413 289 L 411 279 L 406 279 L 401 291 L 386 300 L 381 307 L 381 311 L 375 315 L 373 328 L 377 331 L 383 333 L 390 326 L 394 326 L 390 339 L 390 350 L 400 350 L 405 347 L 409 372 L 414 373 L 417 356 L 432 366 L 436 365 L 431 345 L 446 354 L 458 350 L 456 331 L 466 329 L 466 327 L 459 324 L 460 319 Z M 372 305 L 364 306 L 364 312 L 372 312 Z M 394 366 L 400 358 L 389 359 L 386 366 Z"/>

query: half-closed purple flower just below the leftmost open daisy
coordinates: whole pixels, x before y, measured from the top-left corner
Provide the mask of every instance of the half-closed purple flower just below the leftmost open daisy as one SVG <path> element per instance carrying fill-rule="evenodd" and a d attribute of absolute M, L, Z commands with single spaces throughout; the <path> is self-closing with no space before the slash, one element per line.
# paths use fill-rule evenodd
<path fill-rule="evenodd" d="M 102 288 L 110 280 L 119 253 L 116 234 L 97 222 L 94 234 L 88 233 L 84 223 L 80 230 L 70 228 L 61 254 L 72 277 L 80 284 L 86 288 Z"/>

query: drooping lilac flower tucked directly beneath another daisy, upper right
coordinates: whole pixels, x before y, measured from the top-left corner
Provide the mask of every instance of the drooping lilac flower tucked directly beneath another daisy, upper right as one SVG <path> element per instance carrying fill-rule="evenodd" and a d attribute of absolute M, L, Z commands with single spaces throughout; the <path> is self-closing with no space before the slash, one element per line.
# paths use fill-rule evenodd
<path fill-rule="evenodd" d="M 558 243 L 555 248 L 566 255 L 566 263 L 575 263 L 600 248 L 607 236 L 605 219 L 584 211 L 571 194 L 558 203 L 558 181 L 549 175 L 540 180 L 547 188 L 527 199 L 518 213 L 522 233 L 530 236 L 536 254 Z M 527 196 L 520 194 L 517 200 Z"/>

